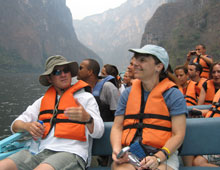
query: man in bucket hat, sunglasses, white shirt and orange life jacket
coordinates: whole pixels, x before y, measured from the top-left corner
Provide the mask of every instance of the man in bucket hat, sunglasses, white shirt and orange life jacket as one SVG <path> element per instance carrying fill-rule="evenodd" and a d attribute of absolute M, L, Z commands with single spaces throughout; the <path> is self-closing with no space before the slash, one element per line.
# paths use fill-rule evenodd
<path fill-rule="evenodd" d="M 104 124 L 95 98 L 85 91 L 88 84 L 78 81 L 71 86 L 77 72 L 78 64 L 63 56 L 47 59 L 39 81 L 49 89 L 11 125 L 13 132 L 27 131 L 33 139 L 41 138 L 39 150 L 17 152 L 0 162 L 1 169 L 86 168 L 91 139 L 102 136 Z"/>

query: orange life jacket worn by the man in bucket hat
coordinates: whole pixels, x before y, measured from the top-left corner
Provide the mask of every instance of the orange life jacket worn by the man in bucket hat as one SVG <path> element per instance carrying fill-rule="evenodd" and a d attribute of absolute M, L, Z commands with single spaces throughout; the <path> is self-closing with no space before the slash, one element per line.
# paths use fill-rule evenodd
<path fill-rule="evenodd" d="M 46 126 L 43 138 L 45 138 L 48 135 L 52 127 L 55 125 L 55 132 L 54 132 L 55 137 L 86 141 L 85 123 L 69 120 L 68 117 L 64 115 L 64 110 L 67 107 L 78 106 L 73 97 L 73 94 L 76 91 L 87 86 L 88 86 L 87 83 L 80 80 L 72 87 L 70 87 L 60 97 L 57 109 L 55 108 L 56 99 L 57 99 L 55 88 L 51 86 L 47 90 L 41 101 L 40 114 L 39 114 L 39 120 L 42 120 L 44 122 L 44 125 Z M 53 118 L 53 112 L 54 112 L 54 118 Z"/>

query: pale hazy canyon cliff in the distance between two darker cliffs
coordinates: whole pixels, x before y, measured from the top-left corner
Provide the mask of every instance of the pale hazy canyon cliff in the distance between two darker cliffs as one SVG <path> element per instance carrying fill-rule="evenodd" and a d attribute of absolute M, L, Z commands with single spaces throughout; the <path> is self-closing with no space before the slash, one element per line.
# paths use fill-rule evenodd
<path fill-rule="evenodd" d="M 129 48 L 140 46 L 144 26 L 155 10 L 170 0 L 128 0 L 104 13 L 74 20 L 79 40 L 93 49 L 104 63 L 125 70 Z"/>

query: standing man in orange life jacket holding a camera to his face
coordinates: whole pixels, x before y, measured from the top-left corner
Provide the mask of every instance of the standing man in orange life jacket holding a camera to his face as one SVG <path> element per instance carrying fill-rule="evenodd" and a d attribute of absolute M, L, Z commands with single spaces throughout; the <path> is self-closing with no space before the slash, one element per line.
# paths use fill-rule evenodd
<path fill-rule="evenodd" d="M 193 55 L 196 57 L 191 61 L 191 57 Z M 206 79 L 209 78 L 209 70 L 210 66 L 213 63 L 213 59 L 211 56 L 206 54 L 206 47 L 204 44 L 198 44 L 196 46 L 196 50 L 188 52 L 185 66 L 188 66 L 190 62 L 199 63 L 203 68 L 201 77 L 204 77 Z"/>

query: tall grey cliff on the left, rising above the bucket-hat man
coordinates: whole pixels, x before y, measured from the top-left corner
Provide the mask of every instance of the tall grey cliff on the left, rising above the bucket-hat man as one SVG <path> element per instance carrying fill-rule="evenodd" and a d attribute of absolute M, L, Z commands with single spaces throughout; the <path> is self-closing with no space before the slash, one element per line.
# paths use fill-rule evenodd
<path fill-rule="evenodd" d="M 94 58 L 102 63 L 78 41 L 65 0 L 0 0 L 0 4 L 1 68 L 38 70 L 55 54 L 78 62 Z"/>

